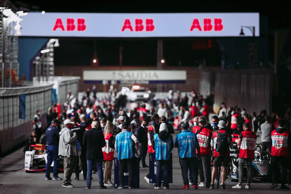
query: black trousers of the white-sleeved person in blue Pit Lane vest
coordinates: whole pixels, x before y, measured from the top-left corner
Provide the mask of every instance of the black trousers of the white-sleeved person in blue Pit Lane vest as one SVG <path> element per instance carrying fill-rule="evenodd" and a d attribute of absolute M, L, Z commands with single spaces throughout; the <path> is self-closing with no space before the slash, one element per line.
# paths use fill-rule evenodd
<path fill-rule="evenodd" d="M 128 159 L 122 159 L 119 160 L 119 186 L 124 186 L 123 184 L 123 179 L 124 179 L 124 170 L 127 167 L 128 171 L 128 186 L 132 187 L 132 177 L 133 177 L 133 159 L 128 158 Z"/>

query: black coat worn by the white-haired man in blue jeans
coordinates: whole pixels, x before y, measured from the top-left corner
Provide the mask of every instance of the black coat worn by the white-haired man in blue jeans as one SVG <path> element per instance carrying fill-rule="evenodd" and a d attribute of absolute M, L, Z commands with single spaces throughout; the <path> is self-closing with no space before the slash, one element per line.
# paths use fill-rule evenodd
<path fill-rule="evenodd" d="M 102 131 L 99 131 L 95 127 L 85 131 L 83 136 L 83 145 L 86 149 L 86 159 L 103 160 L 102 147 L 106 145 L 106 142 Z"/>

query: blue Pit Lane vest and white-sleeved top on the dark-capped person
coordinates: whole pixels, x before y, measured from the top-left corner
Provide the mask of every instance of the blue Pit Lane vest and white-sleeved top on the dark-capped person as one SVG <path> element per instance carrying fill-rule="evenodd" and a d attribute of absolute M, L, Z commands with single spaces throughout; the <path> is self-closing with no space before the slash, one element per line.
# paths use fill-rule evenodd
<path fill-rule="evenodd" d="M 137 143 L 137 138 L 132 132 L 123 129 L 119 134 L 115 136 L 115 149 L 117 150 L 118 160 L 133 158 L 132 141 Z"/>

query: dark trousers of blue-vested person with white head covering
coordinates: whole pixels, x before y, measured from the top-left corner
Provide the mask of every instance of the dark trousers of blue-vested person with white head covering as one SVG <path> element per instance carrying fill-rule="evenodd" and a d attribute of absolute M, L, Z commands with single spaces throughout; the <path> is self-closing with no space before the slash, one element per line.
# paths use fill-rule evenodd
<path fill-rule="evenodd" d="M 162 170 L 163 170 L 163 186 L 169 187 L 169 161 L 168 160 L 158 160 L 157 162 L 157 172 L 156 172 L 156 187 L 160 187 L 162 185 Z"/>

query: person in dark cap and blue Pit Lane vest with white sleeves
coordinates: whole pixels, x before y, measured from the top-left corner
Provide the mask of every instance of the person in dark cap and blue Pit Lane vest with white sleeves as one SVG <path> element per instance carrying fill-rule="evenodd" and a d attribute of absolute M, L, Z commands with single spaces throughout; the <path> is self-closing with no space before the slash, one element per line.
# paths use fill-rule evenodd
<path fill-rule="evenodd" d="M 115 136 L 115 149 L 117 151 L 117 159 L 119 160 L 119 186 L 118 188 L 123 188 L 123 174 L 125 166 L 128 170 L 128 188 L 133 188 L 132 177 L 133 177 L 133 157 L 134 157 L 134 147 L 133 142 L 136 145 L 135 152 L 139 148 L 138 140 L 134 136 L 130 129 L 128 129 L 127 122 L 122 123 L 122 131 Z"/>

